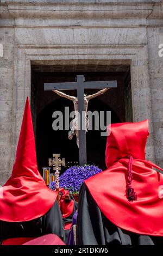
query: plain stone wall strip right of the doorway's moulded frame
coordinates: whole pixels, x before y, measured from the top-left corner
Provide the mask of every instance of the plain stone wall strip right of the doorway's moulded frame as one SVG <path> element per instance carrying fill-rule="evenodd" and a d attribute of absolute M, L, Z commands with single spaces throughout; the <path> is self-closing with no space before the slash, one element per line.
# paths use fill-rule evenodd
<path fill-rule="evenodd" d="M 163 27 L 148 28 L 147 36 L 155 160 L 163 167 L 163 57 L 158 54 L 158 46 L 163 42 Z"/>

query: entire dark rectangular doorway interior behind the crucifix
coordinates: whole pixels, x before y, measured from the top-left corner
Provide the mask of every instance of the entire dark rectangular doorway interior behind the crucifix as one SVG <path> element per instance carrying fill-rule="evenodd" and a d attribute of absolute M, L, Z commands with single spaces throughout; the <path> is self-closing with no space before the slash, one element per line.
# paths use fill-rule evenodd
<path fill-rule="evenodd" d="M 34 130 L 36 135 L 37 163 L 42 173 L 42 167 L 48 166 L 48 158 L 53 154 L 61 154 L 65 158 L 66 167 L 79 163 L 78 147 L 76 137 L 68 139 L 68 131 L 54 131 L 52 129 L 54 111 L 64 113 L 65 107 L 73 111 L 73 103 L 70 100 L 59 97 L 54 92 L 44 92 L 44 82 L 68 82 L 75 81 L 76 75 L 84 75 L 87 81 L 117 80 L 118 87 L 110 89 L 104 95 L 90 100 L 88 111 L 111 111 L 111 123 L 131 121 L 131 90 L 130 70 L 117 72 L 46 72 L 46 69 L 39 70 L 39 67 L 32 66 L 32 114 Z M 97 90 L 86 90 L 86 94 L 92 94 Z M 77 96 L 76 91 L 65 93 Z M 129 113 L 129 115 L 128 115 Z M 103 170 L 105 167 L 105 144 L 106 137 L 101 136 L 101 131 L 88 131 L 86 133 L 87 163 L 96 164 Z"/>

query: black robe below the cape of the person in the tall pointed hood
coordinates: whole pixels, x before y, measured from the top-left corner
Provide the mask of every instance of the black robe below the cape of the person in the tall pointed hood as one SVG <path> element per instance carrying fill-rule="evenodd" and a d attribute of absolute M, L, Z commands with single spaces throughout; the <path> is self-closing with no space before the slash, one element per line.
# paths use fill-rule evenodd
<path fill-rule="evenodd" d="M 41 207 L 41 205 L 40 205 Z M 65 242 L 64 223 L 57 200 L 42 217 L 26 222 L 0 221 L 0 240 L 56 234 Z"/>

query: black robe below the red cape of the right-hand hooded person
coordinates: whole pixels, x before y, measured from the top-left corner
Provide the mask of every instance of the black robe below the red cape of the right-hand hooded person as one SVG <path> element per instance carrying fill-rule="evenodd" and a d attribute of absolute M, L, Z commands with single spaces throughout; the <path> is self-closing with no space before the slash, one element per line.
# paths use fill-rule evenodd
<path fill-rule="evenodd" d="M 163 245 L 163 237 L 118 228 L 103 215 L 83 184 L 78 203 L 77 245 Z"/>

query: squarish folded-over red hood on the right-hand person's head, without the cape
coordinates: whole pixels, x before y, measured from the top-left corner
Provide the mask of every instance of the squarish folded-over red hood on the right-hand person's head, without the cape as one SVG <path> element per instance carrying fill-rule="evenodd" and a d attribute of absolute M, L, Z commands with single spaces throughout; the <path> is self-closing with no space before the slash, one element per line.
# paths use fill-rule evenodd
<path fill-rule="evenodd" d="M 128 155 L 145 160 L 148 135 L 148 120 L 109 125 L 105 151 L 106 167 L 109 168 L 118 159 Z"/>

